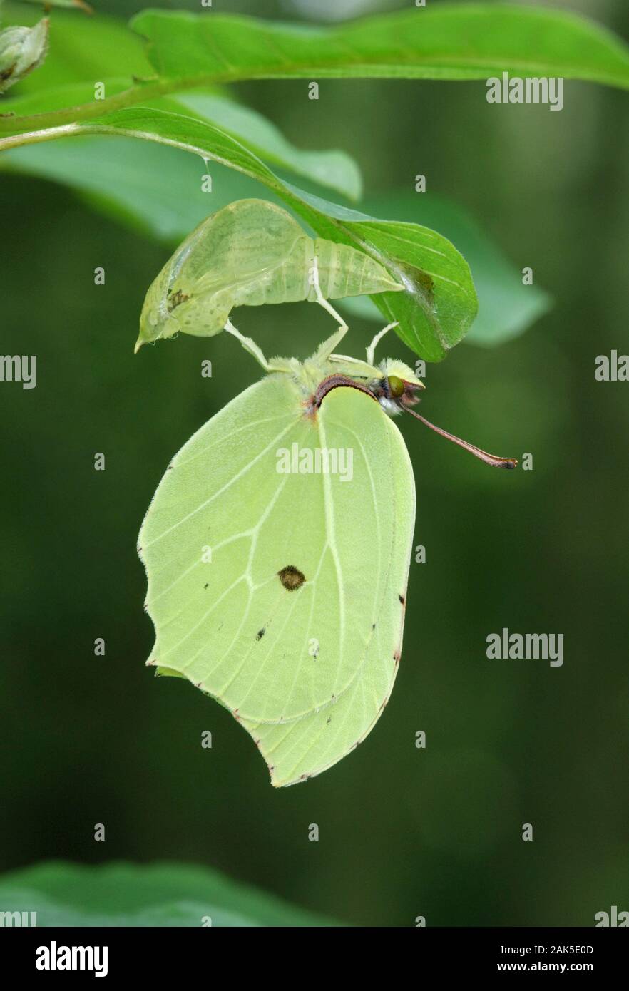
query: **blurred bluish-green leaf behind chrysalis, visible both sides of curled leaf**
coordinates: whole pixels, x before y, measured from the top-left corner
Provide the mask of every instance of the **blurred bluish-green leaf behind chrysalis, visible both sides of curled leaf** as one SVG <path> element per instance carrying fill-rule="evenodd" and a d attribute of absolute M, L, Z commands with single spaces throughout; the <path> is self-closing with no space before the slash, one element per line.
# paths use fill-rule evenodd
<path fill-rule="evenodd" d="M 75 188 L 89 201 L 143 233 L 174 247 L 208 212 L 235 199 L 260 195 L 253 180 L 213 165 L 211 196 L 201 191 L 201 164 L 194 157 L 153 142 L 124 138 L 83 138 L 46 147 L 25 146 L 7 152 L 0 165 L 52 178 Z M 268 198 L 280 202 L 269 192 Z M 478 295 L 478 315 L 466 341 L 481 346 L 501 344 L 523 333 L 552 305 L 537 284 L 523 285 L 521 271 L 480 230 L 462 207 L 435 193 L 381 193 L 367 197 L 363 207 L 388 220 L 414 221 L 444 234 L 462 253 L 472 270 Z M 381 322 L 368 296 L 341 300 L 355 316 Z"/>

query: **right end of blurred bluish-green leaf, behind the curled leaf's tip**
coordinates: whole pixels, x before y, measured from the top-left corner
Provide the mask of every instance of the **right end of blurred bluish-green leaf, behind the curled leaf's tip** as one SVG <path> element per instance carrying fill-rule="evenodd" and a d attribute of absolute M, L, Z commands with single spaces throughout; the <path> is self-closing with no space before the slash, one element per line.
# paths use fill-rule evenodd
<path fill-rule="evenodd" d="M 365 209 L 391 220 L 409 219 L 438 228 L 456 245 L 472 270 L 478 315 L 466 337 L 468 344 L 493 347 L 522 334 L 552 306 L 548 292 L 523 285 L 522 274 L 462 207 L 435 193 L 382 193 L 367 198 Z M 340 304 L 357 316 L 379 321 L 368 296 Z"/>

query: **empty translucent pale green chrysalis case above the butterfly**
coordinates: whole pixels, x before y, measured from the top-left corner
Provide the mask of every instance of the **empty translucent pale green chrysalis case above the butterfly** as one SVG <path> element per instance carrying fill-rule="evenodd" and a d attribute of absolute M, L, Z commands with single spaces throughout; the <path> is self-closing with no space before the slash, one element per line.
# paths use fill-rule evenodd
<path fill-rule="evenodd" d="M 404 288 L 364 252 L 308 237 L 273 203 L 241 199 L 199 224 L 157 275 L 140 317 L 136 351 L 179 331 L 219 334 L 235 306 L 314 302 L 315 261 L 326 299 Z"/>

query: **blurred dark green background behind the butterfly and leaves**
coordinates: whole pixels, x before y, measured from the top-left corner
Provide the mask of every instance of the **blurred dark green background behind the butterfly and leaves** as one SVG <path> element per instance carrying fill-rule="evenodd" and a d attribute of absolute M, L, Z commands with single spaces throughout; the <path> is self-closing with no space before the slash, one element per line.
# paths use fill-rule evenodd
<path fill-rule="evenodd" d="M 107 8 L 128 17 L 142 6 Z M 406 4 L 214 4 L 290 19 L 328 6 Z M 554 6 L 622 32 L 623 0 Z M 429 926 L 593 925 L 596 912 L 629 907 L 629 385 L 593 376 L 597 355 L 628 350 L 626 94 L 568 81 L 564 110 L 551 113 L 490 106 L 479 82 L 325 80 L 319 101 L 304 81 L 236 92 L 298 147 L 354 155 L 372 212 L 379 200 L 386 216 L 386 197 L 412 193 L 422 172 L 517 269 L 533 268 L 554 309 L 499 348 L 464 343 L 429 366 L 422 401 L 430 419 L 491 451 L 531 452 L 533 471 L 492 472 L 400 422 L 427 560 L 411 565 L 395 690 L 355 753 L 272 789 L 226 711 L 145 668 L 153 629 L 136 555 L 168 460 L 258 369 L 226 335 L 134 357 L 168 247 L 62 185 L 3 172 L 1 350 L 37 355 L 38 385 L 0 387 L 0 866 L 169 858 L 355 925 L 412 926 L 419 915 Z M 159 154 L 194 161 L 200 176 L 183 153 Z M 210 171 L 207 212 L 234 181 Z M 266 195 L 252 183 L 235 195 L 252 192 Z M 421 222 L 420 201 L 406 219 Z M 306 304 L 235 322 L 266 354 L 298 357 L 332 327 Z M 372 333 L 353 320 L 348 349 L 359 354 Z M 386 344 L 412 361 L 396 338 Z M 564 633 L 564 666 L 487 660 L 485 638 L 503 626 Z M 200 746 L 206 729 L 211 750 Z"/>

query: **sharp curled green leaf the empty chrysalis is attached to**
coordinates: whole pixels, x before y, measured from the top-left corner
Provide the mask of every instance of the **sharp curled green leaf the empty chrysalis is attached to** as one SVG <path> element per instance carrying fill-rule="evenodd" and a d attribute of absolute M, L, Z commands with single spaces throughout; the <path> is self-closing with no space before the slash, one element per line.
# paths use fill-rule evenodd
<path fill-rule="evenodd" d="M 157 141 L 263 182 L 321 237 L 361 249 L 406 285 L 406 292 L 378 294 L 377 304 L 387 321 L 400 321 L 396 331 L 401 339 L 427 361 L 442 361 L 472 324 L 477 301 L 470 269 L 446 238 L 414 224 L 376 221 L 283 182 L 211 124 L 138 108 L 58 130 L 65 135 L 118 134 Z"/>

